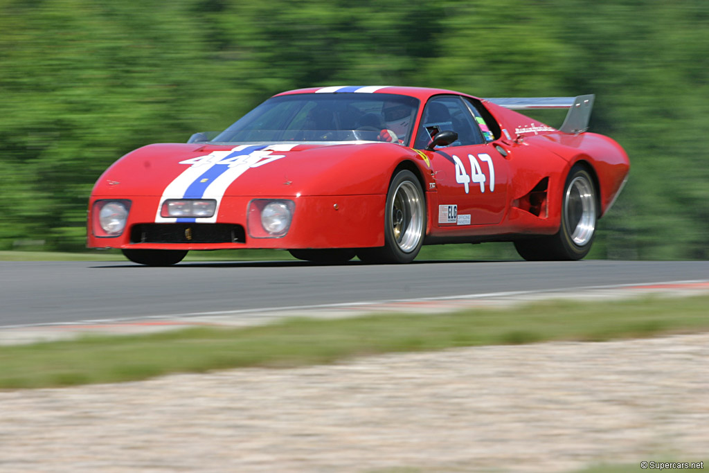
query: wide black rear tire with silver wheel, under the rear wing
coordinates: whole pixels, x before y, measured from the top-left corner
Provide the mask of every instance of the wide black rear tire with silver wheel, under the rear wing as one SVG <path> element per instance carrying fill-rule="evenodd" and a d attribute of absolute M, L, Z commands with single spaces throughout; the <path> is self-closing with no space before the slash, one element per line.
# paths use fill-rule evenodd
<path fill-rule="evenodd" d="M 596 238 L 598 199 L 593 177 L 576 165 L 571 168 L 562 194 L 562 223 L 554 235 L 515 241 L 527 261 L 576 261 L 588 255 Z"/>

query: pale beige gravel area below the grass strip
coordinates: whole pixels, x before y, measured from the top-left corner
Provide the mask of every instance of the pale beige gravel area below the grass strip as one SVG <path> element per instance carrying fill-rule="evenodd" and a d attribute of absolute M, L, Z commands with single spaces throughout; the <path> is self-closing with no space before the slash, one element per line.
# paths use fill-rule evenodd
<path fill-rule="evenodd" d="M 695 334 L 4 391 L 0 471 L 566 472 L 700 461 L 708 359 L 709 334 Z"/>

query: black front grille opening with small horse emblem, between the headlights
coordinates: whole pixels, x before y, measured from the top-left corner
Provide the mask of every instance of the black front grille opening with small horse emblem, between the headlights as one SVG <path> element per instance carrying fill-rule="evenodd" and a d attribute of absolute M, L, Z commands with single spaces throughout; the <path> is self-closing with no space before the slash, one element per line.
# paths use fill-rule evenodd
<path fill-rule="evenodd" d="M 231 223 L 140 223 L 130 243 L 246 243 L 246 233 Z"/>

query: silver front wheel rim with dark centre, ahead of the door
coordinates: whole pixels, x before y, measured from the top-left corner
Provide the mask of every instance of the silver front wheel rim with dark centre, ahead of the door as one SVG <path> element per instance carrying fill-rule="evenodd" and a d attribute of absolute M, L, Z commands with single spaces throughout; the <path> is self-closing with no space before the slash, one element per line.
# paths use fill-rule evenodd
<path fill-rule="evenodd" d="M 396 244 L 403 252 L 415 250 L 423 238 L 423 199 L 411 181 L 396 188 L 391 200 L 391 231 Z"/>

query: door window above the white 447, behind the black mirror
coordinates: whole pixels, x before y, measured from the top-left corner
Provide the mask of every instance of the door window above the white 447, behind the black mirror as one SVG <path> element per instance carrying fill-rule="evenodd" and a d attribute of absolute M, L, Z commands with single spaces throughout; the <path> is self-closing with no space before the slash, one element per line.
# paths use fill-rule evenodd
<path fill-rule="evenodd" d="M 459 96 L 450 95 L 437 96 L 428 101 L 423 109 L 414 148 L 425 148 L 436 133 L 446 130 L 458 133 L 458 140 L 452 146 L 485 143 L 469 108 Z"/>

